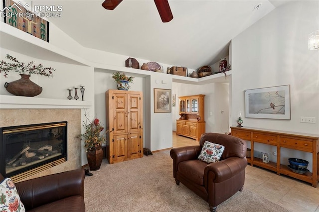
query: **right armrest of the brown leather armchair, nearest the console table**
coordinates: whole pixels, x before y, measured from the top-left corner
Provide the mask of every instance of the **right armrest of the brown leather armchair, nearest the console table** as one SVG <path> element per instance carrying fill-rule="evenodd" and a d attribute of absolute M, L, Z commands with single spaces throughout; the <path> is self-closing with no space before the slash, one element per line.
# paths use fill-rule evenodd
<path fill-rule="evenodd" d="M 229 157 L 216 163 L 210 163 L 205 167 L 204 184 L 209 184 L 208 179 L 214 183 L 220 183 L 232 178 L 234 175 L 245 170 L 247 159 L 239 157 Z M 211 173 L 210 173 L 211 172 Z M 213 176 L 212 176 L 213 175 Z M 205 179 L 206 178 L 206 179 Z"/>

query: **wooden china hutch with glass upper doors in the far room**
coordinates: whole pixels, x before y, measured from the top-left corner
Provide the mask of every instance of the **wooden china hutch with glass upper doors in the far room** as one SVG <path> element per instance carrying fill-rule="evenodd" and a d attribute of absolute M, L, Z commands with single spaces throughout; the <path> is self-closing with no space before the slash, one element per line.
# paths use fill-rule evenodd
<path fill-rule="evenodd" d="M 180 118 L 176 120 L 176 135 L 199 141 L 205 132 L 204 97 L 202 94 L 178 97 Z"/>

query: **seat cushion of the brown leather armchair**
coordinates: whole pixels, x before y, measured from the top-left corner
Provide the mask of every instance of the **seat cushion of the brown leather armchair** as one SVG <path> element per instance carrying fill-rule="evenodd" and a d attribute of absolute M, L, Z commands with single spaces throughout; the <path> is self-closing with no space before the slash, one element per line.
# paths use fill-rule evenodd
<path fill-rule="evenodd" d="M 204 185 L 204 170 L 207 163 L 200 160 L 187 160 L 178 164 L 178 172 L 192 182 Z"/>

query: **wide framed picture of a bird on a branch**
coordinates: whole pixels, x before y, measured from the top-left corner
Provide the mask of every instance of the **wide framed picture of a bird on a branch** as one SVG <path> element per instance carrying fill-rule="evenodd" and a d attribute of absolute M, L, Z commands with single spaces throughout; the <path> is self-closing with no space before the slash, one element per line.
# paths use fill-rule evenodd
<path fill-rule="evenodd" d="M 245 117 L 290 120 L 290 85 L 245 90 Z"/>

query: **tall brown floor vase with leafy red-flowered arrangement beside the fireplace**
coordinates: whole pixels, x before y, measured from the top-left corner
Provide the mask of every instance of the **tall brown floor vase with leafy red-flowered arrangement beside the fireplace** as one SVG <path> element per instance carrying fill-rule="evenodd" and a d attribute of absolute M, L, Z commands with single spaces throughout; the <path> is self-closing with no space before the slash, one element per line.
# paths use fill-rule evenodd
<path fill-rule="evenodd" d="M 83 121 L 83 127 L 85 133 L 81 134 L 84 139 L 86 148 L 86 158 L 91 171 L 99 170 L 103 159 L 102 144 L 105 143 L 105 135 L 101 132 L 104 127 L 98 118 L 90 120 L 88 113 L 84 112 L 85 121 Z"/>

